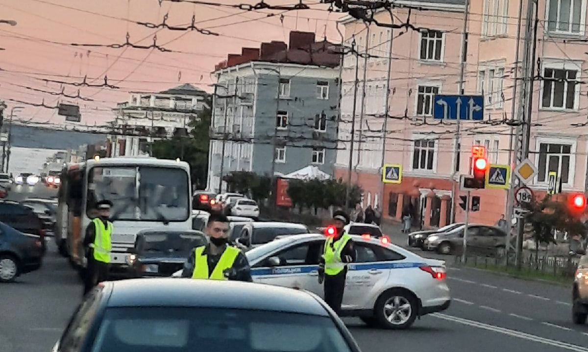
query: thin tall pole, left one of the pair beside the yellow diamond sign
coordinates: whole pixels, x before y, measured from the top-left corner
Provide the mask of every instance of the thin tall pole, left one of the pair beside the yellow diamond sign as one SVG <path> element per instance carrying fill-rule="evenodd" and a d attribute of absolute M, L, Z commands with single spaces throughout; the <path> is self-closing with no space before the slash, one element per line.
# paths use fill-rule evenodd
<path fill-rule="evenodd" d="M 515 83 L 513 84 L 513 96 L 511 99 L 511 110 L 510 110 L 510 121 L 514 121 L 515 120 L 515 113 L 516 113 L 516 90 L 517 90 L 517 86 L 519 86 L 519 56 L 520 56 L 520 28 L 521 28 L 521 23 L 522 23 L 522 19 L 523 19 L 523 0 L 520 0 L 520 4 L 519 4 L 519 18 L 517 19 L 517 30 L 516 30 L 516 49 L 515 49 L 515 76 L 514 76 L 514 81 Z M 513 136 L 513 133 L 515 131 L 515 128 L 513 128 L 513 126 L 510 126 L 510 134 L 509 134 L 509 165 L 512 167 L 512 161 L 513 161 L 513 145 L 515 144 L 514 142 L 514 138 L 515 136 Z M 512 218 L 513 218 L 513 207 L 515 205 L 515 173 L 512 172 L 511 175 L 511 180 L 510 180 L 510 187 L 508 189 L 508 193 L 507 193 L 507 201 L 506 201 L 506 209 L 505 209 L 505 218 L 506 221 L 508 222 L 508 229 L 506 231 L 506 262 L 508 262 L 508 253 L 509 253 L 509 249 L 510 249 L 510 232 L 512 230 Z M 586 179 L 588 180 L 588 178 Z"/>

